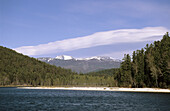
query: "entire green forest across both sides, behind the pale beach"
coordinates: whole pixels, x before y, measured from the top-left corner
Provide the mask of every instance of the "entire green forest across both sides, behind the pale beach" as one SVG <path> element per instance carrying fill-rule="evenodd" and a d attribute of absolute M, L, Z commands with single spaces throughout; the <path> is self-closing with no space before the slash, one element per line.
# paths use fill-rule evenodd
<path fill-rule="evenodd" d="M 120 68 L 86 74 L 56 67 L 0 46 L 0 86 L 92 86 L 170 88 L 170 37 L 147 44 Z"/>

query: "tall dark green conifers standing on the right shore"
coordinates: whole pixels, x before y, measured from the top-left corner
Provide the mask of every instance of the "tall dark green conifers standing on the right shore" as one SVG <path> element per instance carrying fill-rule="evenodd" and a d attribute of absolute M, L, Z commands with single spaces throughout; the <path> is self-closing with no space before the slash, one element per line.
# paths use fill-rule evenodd
<path fill-rule="evenodd" d="M 118 86 L 170 88 L 170 37 L 125 55 L 116 73 Z"/>

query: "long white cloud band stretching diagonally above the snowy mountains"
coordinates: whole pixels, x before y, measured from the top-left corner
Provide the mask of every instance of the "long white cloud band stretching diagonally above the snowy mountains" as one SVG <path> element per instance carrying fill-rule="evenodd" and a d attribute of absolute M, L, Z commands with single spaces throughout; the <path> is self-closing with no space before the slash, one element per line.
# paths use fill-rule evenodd
<path fill-rule="evenodd" d="M 84 37 L 65 39 L 61 41 L 50 42 L 47 44 L 40 44 L 37 46 L 22 46 L 15 48 L 14 50 L 29 56 L 45 55 L 116 43 L 142 42 L 155 39 L 160 40 L 162 35 L 168 31 L 169 30 L 164 27 L 120 29 L 97 32 Z"/>

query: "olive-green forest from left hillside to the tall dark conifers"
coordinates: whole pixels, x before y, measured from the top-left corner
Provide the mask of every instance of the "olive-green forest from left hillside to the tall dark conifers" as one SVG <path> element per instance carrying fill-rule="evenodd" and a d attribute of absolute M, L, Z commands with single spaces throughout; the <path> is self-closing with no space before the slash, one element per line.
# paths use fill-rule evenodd
<path fill-rule="evenodd" d="M 0 46 L 0 86 L 113 86 L 114 78 L 77 74 Z"/>

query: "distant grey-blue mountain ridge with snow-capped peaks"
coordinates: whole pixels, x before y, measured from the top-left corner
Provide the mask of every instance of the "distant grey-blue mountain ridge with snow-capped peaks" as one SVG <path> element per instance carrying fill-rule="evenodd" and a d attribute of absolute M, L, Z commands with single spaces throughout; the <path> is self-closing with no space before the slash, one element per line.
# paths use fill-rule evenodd
<path fill-rule="evenodd" d="M 55 58 L 41 57 L 40 61 L 60 66 L 66 69 L 72 69 L 78 73 L 88 73 L 103 69 L 119 68 L 121 60 L 107 56 L 94 56 L 89 58 L 74 58 L 68 55 L 56 56 Z"/>

